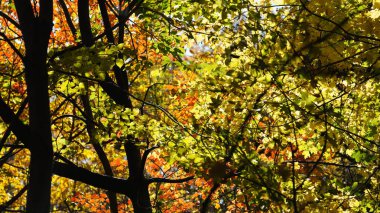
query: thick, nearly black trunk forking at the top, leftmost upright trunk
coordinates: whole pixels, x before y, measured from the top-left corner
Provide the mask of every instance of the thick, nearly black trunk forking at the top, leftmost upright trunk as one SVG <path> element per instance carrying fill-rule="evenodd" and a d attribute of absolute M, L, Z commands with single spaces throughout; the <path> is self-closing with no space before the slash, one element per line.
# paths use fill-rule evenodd
<path fill-rule="evenodd" d="M 40 2 L 35 17 L 30 1 L 15 1 L 26 55 L 25 79 L 29 97 L 30 174 L 27 212 L 49 212 L 53 163 L 47 74 L 47 47 L 52 30 L 53 2 Z"/>

